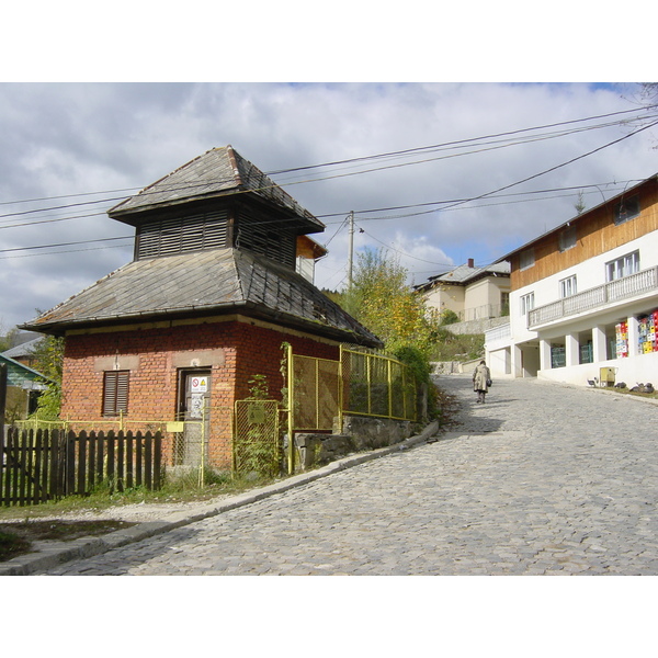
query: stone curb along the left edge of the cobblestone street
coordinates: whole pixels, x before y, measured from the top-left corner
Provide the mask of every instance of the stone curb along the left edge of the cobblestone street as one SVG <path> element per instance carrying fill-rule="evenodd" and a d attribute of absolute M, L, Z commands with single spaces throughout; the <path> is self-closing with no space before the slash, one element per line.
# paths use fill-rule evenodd
<path fill-rule="evenodd" d="M 434 420 L 420 434 L 410 436 L 401 443 L 379 447 L 367 453 L 359 453 L 343 457 L 342 460 L 331 462 L 316 470 L 300 473 L 286 478 L 281 483 L 268 485 L 266 487 L 254 489 L 247 494 L 240 494 L 224 499 L 219 504 L 201 504 L 197 511 L 193 513 L 174 512 L 169 515 L 168 521 L 147 521 L 99 537 L 80 537 L 79 540 L 73 540 L 71 542 L 43 542 L 41 546 L 39 543 L 35 543 L 37 553 L 19 555 L 5 563 L 1 563 L 0 576 L 30 576 L 35 571 L 49 569 L 67 561 L 101 555 L 113 548 L 120 548 L 135 542 L 140 542 L 141 540 L 169 532 L 175 527 L 181 527 L 194 523 L 195 521 L 202 521 L 251 504 L 252 502 L 269 498 L 274 494 L 288 491 L 290 489 L 313 483 L 322 477 L 332 475 L 333 473 L 345 470 L 352 466 L 358 466 L 365 462 L 371 462 L 372 460 L 378 460 L 393 453 L 416 447 L 427 443 L 428 439 L 432 438 L 438 432 L 439 421 Z"/>

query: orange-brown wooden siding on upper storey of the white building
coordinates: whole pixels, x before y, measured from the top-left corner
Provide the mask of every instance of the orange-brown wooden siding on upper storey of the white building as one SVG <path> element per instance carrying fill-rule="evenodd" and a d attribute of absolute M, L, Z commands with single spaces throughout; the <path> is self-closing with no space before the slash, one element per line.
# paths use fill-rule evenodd
<path fill-rule="evenodd" d="M 654 230 L 658 230 L 658 184 L 655 178 L 628 194 L 629 197 L 639 194 L 640 213 L 635 219 L 624 224 L 614 224 L 614 207 L 619 197 L 605 205 L 574 218 L 570 226 L 563 226 L 537 239 L 527 249 L 534 250 L 534 265 L 521 270 L 521 253 L 526 249 L 514 252 L 510 258 L 511 287 L 517 291 L 552 274 L 572 268 L 590 258 L 594 258 L 615 247 L 635 240 Z M 566 251 L 559 250 L 560 235 L 576 227 L 576 246 Z"/>

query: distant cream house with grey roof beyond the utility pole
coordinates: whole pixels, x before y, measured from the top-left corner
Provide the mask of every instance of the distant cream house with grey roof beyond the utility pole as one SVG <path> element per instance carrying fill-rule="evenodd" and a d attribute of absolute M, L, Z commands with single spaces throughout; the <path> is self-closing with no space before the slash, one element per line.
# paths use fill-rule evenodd
<path fill-rule="evenodd" d="M 430 276 L 415 290 L 423 296 L 428 308 L 439 314 L 452 310 L 461 321 L 498 318 L 509 310 L 509 263 L 476 268 L 474 260 L 468 259 L 467 264 Z"/>

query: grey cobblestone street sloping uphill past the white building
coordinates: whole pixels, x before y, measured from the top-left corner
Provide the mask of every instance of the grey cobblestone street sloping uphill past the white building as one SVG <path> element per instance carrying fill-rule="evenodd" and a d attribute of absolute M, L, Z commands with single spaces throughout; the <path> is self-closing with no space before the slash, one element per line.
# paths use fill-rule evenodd
<path fill-rule="evenodd" d="M 658 406 L 468 376 L 440 441 L 53 575 L 656 575 Z"/>

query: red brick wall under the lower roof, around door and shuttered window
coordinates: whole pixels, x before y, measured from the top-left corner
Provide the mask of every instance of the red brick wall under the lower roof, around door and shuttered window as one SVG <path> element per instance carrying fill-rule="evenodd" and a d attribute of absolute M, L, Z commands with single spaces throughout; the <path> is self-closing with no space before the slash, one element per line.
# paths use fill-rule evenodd
<path fill-rule="evenodd" d="M 230 413 L 236 399 L 249 395 L 253 375 L 265 375 L 272 399 L 281 399 L 283 379 L 280 372 L 287 341 L 295 353 L 322 359 L 338 359 L 339 348 L 311 339 L 291 336 L 247 322 L 215 322 L 179 326 L 167 329 L 137 329 L 112 333 L 69 336 L 66 340 L 61 418 L 91 421 L 77 429 L 117 429 L 102 416 L 102 370 L 99 358 L 138 356 L 131 370 L 126 429 L 144 430 L 137 420 L 169 421 L 178 411 L 179 368 L 172 363 L 175 353 L 200 350 L 224 350 L 224 363 L 212 367 L 209 439 L 211 465 L 230 468 Z M 201 364 L 206 365 L 205 363 Z M 105 370 L 112 370 L 106 367 Z M 171 445 L 167 458 L 171 462 Z"/>

